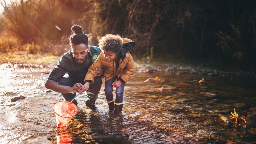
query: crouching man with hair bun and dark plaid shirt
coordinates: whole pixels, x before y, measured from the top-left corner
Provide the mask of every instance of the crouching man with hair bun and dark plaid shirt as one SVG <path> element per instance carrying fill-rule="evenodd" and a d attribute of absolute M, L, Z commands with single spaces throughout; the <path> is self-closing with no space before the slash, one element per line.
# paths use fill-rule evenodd
<path fill-rule="evenodd" d="M 45 83 L 45 88 L 59 92 L 66 101 L 73 100 L 76 92 L 84 88 L 84 77 L 88 68 L 101 52 L 99 47 L 88 46 L 88 36 L 83 33 L 79 25 L 74 25 L 71 29 L 74 32 L 69 37 L 71 50 L 61 56 L 59 64 L 53 68 Z M 103 74 L 103 68 L 96 70 L 98 71 L 95 71 L 97 73 L 95 82 L 86 91 L 88 98 L 85 100 L 85 105 L 89 107 L 95 105 L 102 84 L 100 76 Z M 76 100 L 72 102 L 77 106 Z"/>

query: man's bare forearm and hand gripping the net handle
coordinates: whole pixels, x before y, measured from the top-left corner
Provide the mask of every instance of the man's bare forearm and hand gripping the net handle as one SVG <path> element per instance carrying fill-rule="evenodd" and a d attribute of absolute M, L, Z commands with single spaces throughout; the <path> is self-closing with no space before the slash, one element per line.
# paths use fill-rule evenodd
<path fill-rule="evenodd" d="M 53 80 L 49 80 L 45 83 L 45 88 L 58 93 L 76 93 L 76 92 L 79 93 L 84 88 L 84 86 L 83 84 L 74 84 L 73 87 L 70 87 L 70 86 L 60 85 Z M 83 92 L 81 92 L 81 94 L 82 93 Z"/>

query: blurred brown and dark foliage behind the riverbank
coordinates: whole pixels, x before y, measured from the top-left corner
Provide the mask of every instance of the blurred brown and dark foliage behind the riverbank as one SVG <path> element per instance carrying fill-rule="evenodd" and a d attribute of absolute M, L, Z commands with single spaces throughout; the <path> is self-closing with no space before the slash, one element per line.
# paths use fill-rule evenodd
<path fill-rule="evenodd" d="M 136 42 L 145 60 L 254 71 L 255 0 L 0 0 L 1 52 L 61 55 L 78 24 L 98 46 L 105 34 Z M 61 30 L 57 29 L 58 26 Z"/>

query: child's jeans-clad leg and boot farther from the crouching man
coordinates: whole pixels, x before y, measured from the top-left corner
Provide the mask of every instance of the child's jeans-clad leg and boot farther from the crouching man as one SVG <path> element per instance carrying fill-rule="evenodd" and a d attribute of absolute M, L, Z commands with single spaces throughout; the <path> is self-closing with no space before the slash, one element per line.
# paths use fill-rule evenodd
<path fill-rule="evenodd" d="M 119 113 L 123 109 L 123 97 L 124 97 L 124 85 L 125 83 L 122 83 L 120 87 L 116 88 L 116 102 L 115 102 L 115 111 L 114 116 L 112 118 L 119 118 Z"/>

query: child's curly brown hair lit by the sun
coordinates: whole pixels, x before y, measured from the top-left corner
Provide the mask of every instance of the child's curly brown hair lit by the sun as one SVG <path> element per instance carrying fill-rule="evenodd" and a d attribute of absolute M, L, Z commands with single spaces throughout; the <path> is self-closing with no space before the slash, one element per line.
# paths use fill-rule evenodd
<path fill-rule="evenodd" d="M 123 39 L 120 35 L 107 34 L 102 36 L 99 40 L 99 47 L 102 51 L 113 51 L 120 53 L 123 47 Z"/>

